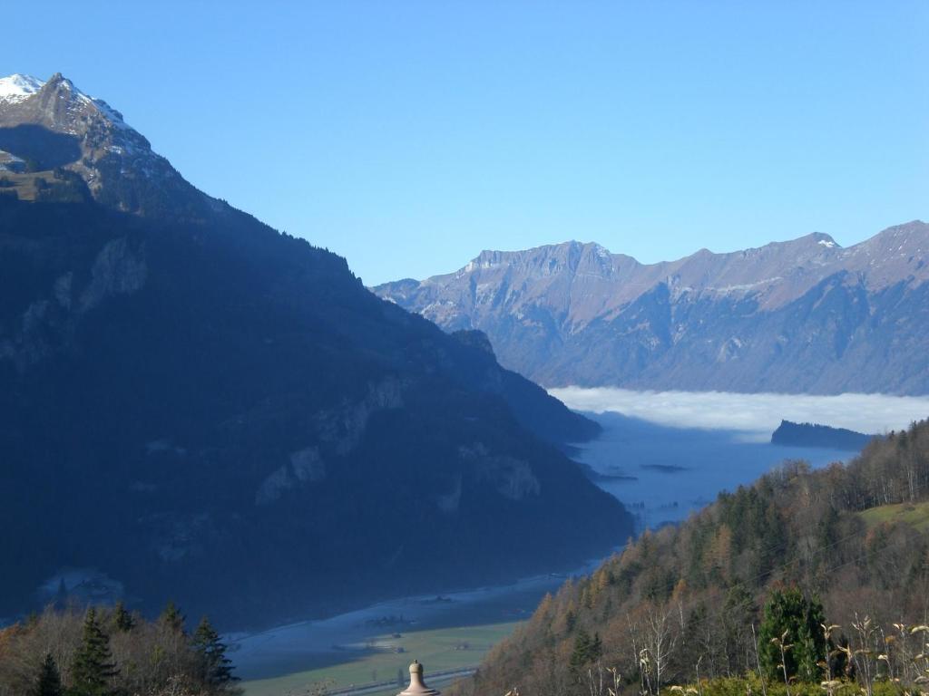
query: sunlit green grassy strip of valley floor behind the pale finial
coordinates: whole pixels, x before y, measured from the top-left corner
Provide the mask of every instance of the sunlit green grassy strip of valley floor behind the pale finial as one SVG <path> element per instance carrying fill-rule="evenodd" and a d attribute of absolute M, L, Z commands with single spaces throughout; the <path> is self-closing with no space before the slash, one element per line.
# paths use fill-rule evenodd
<path fill-rule="evenodd" d="M 351 662 L 334 664 L 321 669 L 296 672 L 271 679 L 242 682 L 245 696 L 288 696 L 305 694 L 314 684 L 329 680 L 330 690 L 349 686 L 362 687 L 376 682 L 391 681 L 385 690 L 372 690 L 365 696 L 396 694 L 398 672 L 408 675 L 413 659 L 425 667 L 429 675 L 480 664 L 484 655 L 506 638 L 518 623 L 438 628 L 427 631 L 405 631 L 399 638 L 392 634 L 373 638 L 373 651 L 357 656 L 348 654 Z M 400 651 L 402 650 L 402 651 Z"/>

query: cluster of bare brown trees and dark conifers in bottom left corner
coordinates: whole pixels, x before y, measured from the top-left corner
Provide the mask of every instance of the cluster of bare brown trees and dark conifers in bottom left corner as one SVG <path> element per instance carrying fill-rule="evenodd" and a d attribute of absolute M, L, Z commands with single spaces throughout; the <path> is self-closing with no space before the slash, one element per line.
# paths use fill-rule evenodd
<path fill-rule="evenodd" d="M 49 605 L 0 630 L 0 696 L 234 696 L 227 647 L 173 602 L 153 621 L 115 607 Z"/>

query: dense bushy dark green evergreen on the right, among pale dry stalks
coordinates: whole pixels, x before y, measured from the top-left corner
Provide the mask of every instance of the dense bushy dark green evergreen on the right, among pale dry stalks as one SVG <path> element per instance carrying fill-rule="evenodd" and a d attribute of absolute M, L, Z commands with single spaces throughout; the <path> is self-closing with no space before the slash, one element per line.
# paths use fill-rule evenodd
<path fill-rule="evenodd" d="M 822 603 L 817 598 L 806 599 L 797 587 L 774 590 L 765 604 L 758 637 L 759 657 L 767 677 L 818 682 L 821 675 L 817 663 L 827 651 L 821 628 L 824 623 Z M 782 661 L 787 667 L 786 676 Z"/>

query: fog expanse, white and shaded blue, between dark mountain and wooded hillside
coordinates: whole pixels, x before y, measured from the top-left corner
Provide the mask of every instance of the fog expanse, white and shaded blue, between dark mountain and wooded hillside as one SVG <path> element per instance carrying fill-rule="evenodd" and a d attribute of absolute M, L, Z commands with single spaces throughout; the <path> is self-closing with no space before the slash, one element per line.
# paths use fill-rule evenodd
<path fill-rule="evenodd" d="M 601 474 L 639 527 L 687 519 L 723 490 L 751 483 L 786 459 L 813 467 L 857 453 L 771 445 L 782 419 L 883 433 L 929 417 L 929 397 L 884 394 L 633 392 L 568 387 L 550 392 L 599 422 L 603 434 L 575 455 Z"/>

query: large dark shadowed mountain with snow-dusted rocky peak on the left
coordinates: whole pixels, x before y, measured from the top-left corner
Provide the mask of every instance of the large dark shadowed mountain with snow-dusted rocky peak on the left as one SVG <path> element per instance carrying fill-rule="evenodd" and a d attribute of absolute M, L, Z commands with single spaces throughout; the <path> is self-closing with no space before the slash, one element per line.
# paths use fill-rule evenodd
<path fill-rule="evenodd" d="M 0 81 L 0 149 L 0 616 L 123 596 L 268 624 L 631 532 L 559 449 L 594 423 L 64 77 Z"/>

